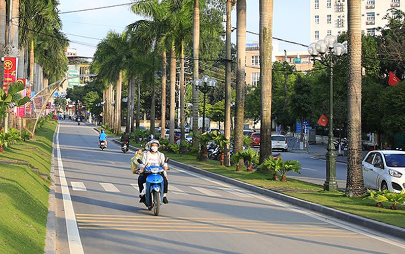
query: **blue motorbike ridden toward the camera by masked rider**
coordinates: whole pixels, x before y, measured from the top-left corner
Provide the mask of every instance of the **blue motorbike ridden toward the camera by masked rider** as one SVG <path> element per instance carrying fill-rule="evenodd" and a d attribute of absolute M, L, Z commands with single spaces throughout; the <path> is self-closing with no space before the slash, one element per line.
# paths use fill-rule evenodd
<path fill-rule="evenodd" d="M 168 162 L 169 158 L 166 158 L 165 161 Z M 142 160 L 138 159 L 138 163 L 142 164 Z M 159 215 L 160 205 L 163 202 L 164 181 L 160 174 L 164 171 L 164 168 L 160 166 L 146 166 L 144 173 L 142 173 L 148 175 L 146 177 L 145 205 L 149 210 L 153 209 L 155 216 Z"/>

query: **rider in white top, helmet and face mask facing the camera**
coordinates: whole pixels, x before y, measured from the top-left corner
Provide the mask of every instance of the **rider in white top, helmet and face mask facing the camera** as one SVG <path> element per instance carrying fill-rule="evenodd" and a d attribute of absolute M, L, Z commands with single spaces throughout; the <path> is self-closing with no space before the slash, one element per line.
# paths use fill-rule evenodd
<path fill-rule="evenodd" d="M 142 174 L 145 171 L 145 166 L 160 166 L 163 167 L 165 172 L 160 173 L 164 180 L 164 190 L 163 190 L 163 203 L 168 204 L 168 179 L 167 179 L 167 171 L 169 170 L 168 163 L 165 162 L 165 154 L 158 151 L 160 147 L 160 143 L 158 140 L 151 140 L 149 142 L 148 151 L 144 152 L 142 155 L 142 164 L 139 164 L 139 177 L 138 177 L 138 186 L 139 186 L 139 200 L 140 203 L 145 202 L 145 192 L 144 190 L 144 183 L 146 183 L 146 174 Z"/>

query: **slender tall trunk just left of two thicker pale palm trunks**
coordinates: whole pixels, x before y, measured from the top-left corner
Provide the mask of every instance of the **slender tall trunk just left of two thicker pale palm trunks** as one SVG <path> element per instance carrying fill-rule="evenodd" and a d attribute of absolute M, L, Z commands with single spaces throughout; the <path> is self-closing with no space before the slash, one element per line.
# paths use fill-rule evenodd
<path fill-rule="evenodd" d="M 230 141 L 231 138 L 231 72 L 232 72 L 232 54 L 231 54 L 231 11 L 232 1 L 226 0 L 226 74 L 225 74 L 225 138 Z M 230 166 L 230 143 L 225 145 L 224 165 Z"/>

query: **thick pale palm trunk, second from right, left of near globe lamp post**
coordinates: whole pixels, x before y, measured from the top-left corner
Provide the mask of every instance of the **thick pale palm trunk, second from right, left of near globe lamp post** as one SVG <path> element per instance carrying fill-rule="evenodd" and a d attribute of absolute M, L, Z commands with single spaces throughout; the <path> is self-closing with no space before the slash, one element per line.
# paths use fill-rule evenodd
<path fill-rule="evenodd" d="M 271 156 L 271 52 L 273 0 L 260 1 L 260 83 L 262 110 L 260 126 L 260 163 Z"/>

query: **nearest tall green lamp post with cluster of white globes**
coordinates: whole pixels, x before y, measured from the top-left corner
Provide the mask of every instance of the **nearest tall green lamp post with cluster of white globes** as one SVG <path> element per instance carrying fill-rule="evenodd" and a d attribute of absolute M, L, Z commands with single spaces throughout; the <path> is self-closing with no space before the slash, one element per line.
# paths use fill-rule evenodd
<path fill-rule="evenodd" d="M 337 57 L 347 53 L 347 41 L 338 43 L 335 35 L 328 35 L 325 39 L 318 40 L 308 46 L 308 53 L 313 57 L 313 61 L 318 61 L 330 70 L 330 99 L 329 99 L 329 139 L 328 152 L 326 154 L 326 180 L 323 190 L 335 191 L 338 189 L 336 182 L 336 153 L 333 144 L 333 67 Z"/>

